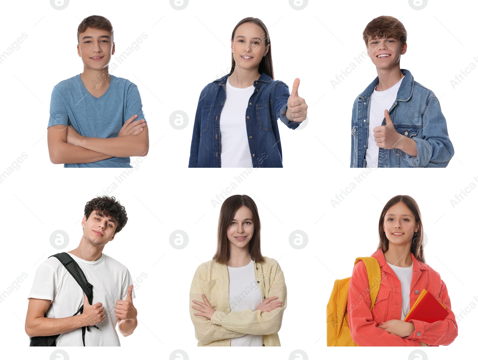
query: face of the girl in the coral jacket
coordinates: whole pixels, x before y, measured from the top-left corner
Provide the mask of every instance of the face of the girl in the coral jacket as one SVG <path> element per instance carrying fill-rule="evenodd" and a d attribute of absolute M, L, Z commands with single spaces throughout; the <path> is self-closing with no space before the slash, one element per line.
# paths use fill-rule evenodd
<path fill-rule="evenodd" d="M 403 202 L 392 205 L 385 213 L 383 231 L 389 240 L 389 245 L 408 244 L 410 247 L 413 234 L 419 227 L 412 211 Z"/>

